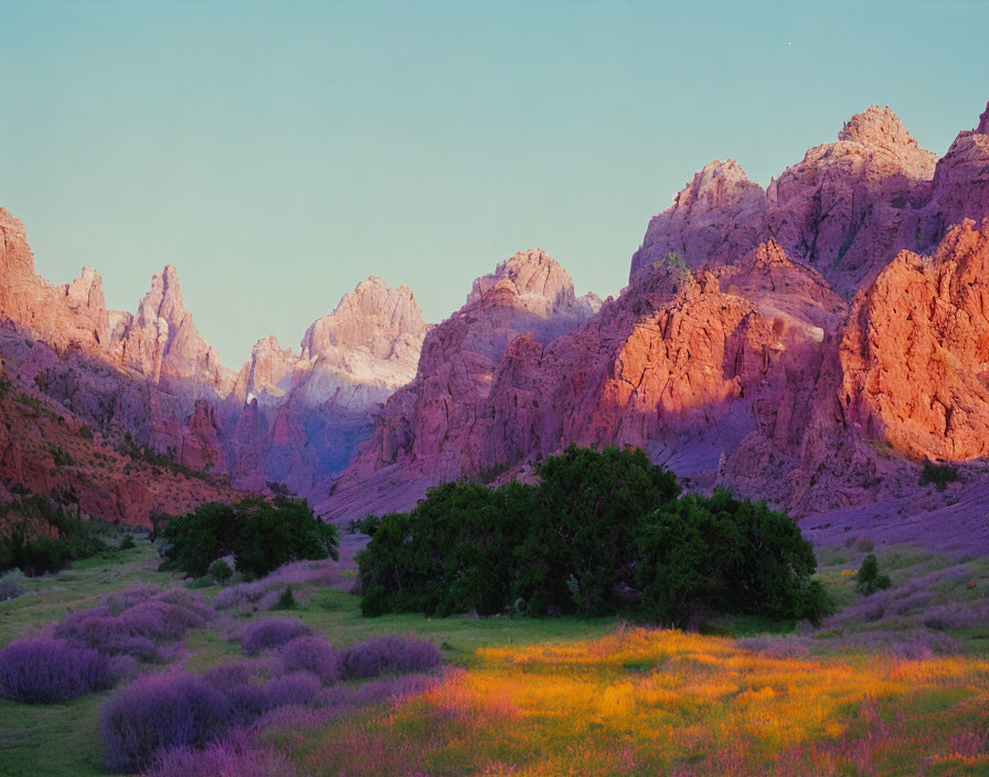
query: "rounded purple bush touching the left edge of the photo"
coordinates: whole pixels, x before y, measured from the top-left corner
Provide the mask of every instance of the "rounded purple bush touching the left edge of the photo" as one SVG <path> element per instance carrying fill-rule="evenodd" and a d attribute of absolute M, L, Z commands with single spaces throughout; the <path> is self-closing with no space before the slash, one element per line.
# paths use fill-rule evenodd
<path fill-rule="evenodd" d="M 57 639 L 19 639 L 0 650 L 0 695 L 12 701 L 61 702 L 114 680 L 107 657 Z"/>

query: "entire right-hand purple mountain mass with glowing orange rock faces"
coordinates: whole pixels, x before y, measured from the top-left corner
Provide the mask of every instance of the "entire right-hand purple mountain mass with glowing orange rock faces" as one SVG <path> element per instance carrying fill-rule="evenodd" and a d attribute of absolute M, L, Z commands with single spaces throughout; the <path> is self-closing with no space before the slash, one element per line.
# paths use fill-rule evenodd
<path fill-rule="evenodd" d="M 407 509 L 444 479 L 528 477 L 572 443 L 639 446 L 692 488 L 798 515 L 908 499 L 925 457 L 980 481 L 987 130 L 989 107 L 936 159 L 872 106 L 765 190 L 713 162 L 589 316 L 571 312 L 559 265 L 517 255 L 429 332 L 415 381 L 320 510 L 353 518 Z M 519 276 L 538 280 L 521 290 Z"/>

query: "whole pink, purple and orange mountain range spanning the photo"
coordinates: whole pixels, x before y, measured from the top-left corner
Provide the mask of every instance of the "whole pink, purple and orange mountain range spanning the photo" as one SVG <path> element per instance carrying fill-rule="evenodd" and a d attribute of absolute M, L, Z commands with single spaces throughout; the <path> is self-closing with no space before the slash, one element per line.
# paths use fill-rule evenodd
<path fill-rule="evenodd" d="M 796 513 L 905 498 L 917 460 L 989 453 L 987 116 L 940 160 L 873 106 L 768 190 L 710 164 L 651 220 L 617 299 L 577 298 L 534 249 L 430 328 L 372 277 L 298 353 L 264 339 L 236 374 L 173 267 L 136 315 L 107 311 L 92 269 L 36 277 L 0 212 L 4 356 L 99 430 L 333 518 L 528 477 L 572 443 L 640 446 Z"/>

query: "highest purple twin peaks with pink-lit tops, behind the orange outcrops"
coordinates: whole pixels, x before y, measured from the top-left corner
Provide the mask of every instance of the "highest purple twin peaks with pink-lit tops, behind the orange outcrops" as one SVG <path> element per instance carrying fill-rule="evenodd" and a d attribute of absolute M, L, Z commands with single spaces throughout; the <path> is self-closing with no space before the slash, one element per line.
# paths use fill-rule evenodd
<path fill-rule="evenodd" d="M 936 157 L 889 108 L 847 121 L 763 191 L 734 162 L 713 162 L 655 216 L 631 274 L 676 253 L 695 268 L 731 264 L 775 238 L 849 298 L 896 251 L 916 247 L 904 228 L 929 191 Z"/>

